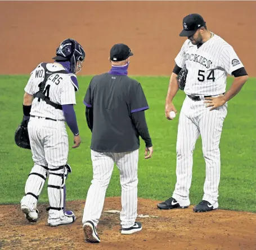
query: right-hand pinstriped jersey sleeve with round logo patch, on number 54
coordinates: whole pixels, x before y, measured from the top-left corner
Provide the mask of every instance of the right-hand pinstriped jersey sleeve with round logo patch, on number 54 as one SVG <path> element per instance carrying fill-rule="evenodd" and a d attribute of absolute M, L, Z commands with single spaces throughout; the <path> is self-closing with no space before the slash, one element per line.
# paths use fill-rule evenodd
<path fill-rule="evenodd" d="M 230 75 L 232 75 L 233 71 L 244 67 L 235 50 L 231 46 L 225 47 L 222 50 L 219 59 L 224 70 Z"/>

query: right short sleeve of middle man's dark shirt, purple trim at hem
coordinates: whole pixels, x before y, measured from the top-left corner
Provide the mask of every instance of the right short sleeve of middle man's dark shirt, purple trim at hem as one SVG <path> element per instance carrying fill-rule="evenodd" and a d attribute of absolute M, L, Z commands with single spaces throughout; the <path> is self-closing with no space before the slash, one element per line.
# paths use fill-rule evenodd
<path fill-rule="evenodd" d="M 129 92 L 130 95 L 130 110 L 131 113 L 139 112 L 142 110 L 149 109 L 149 104 L 147 104 L 146 96 L 143 92 L 141 84 L 133 85 Z"/>

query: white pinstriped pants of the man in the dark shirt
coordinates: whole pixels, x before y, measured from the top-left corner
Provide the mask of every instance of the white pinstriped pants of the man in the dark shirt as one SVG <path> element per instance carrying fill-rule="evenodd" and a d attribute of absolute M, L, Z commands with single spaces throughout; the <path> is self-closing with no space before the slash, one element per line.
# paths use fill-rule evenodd
<path fill-rule="evenodd" d="M 83 224 L 92 220 L 98 224 L 104 206 L 107 186 L 113 172 L 114 163 L 120 172 L 122 187 L 121 225 L 129 228 L 137 217 L 138 150 L 122 153 L 96 152 L 91 150 L 93 180 L 89 187 L 84 206 Z"/>

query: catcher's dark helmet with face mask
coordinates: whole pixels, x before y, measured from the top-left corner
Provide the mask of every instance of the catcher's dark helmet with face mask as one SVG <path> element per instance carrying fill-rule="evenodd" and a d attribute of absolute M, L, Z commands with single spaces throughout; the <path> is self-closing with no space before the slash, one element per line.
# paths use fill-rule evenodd
<path fill-rule="evenodd" d="M 61 42 L 60 46 L 56 49 L 56 61 L 69 61 L 71 72 L 77 73 L 82 68 L 81 63 L 86 57 L 83 47 L 73 39 L 65 39 Z"/>

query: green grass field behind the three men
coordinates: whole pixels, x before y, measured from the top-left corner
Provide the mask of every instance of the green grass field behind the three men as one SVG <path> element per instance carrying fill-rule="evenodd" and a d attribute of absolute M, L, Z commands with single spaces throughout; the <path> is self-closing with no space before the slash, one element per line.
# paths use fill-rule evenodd
<path fill-rule="evenodd" d="M 176 137 L 178 117 L 167 121 L 164 116 L 165 96 L 169 77 L 134 77 L 141 82 L 147 96 L 150 110 L 146 112 L 149 131 L 154 144 L 154 157 L 143 159 L 140 151 L 138 171 L 138 196 L 165 200 L 172 195 L 176 183 Z M 83 97 L 90 76 L 79 77 L 80 90 L 75 107 L 82 144 L 71 149 L 72 136 L 69 132 L 69 163 L 73 173 L 69 175 L 67 200 L 84 200 L 92 179 L 90 156 L 91 132 L 84 116 Z M 30 150 L 20 149 L 14 142 L 14 131 L 23 117 L 22 103 L 24 86 L 28 76 L 0 76 L 0 203 L 19 203 L 24 195 L 26 178 L 33 166 Z M 228 87 L 232 78 L 228 79 Z M 255 91 L 256 79 L 250 78 L 239 95 L 228 103 L 228 115 L 224 122 L 221 138 L 221 183 L 219 185 L 219 205 L 222 209 L 256 212 L 256 161 L 255 161 Z M 174 102 L 181 109 L 185 94 L 179 91 Z M 205 163 L 201 150 L 201 140 L 197 140 L 194 152 L 194 169 L 190 200 L 195 204 L 203 196 Z M 120 196 L 118 170 L 115 168 L 106 196 Z M 40 202 L 47 201 L 44 187 Z"/>

